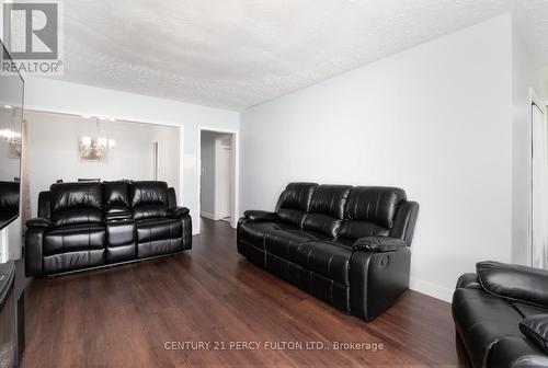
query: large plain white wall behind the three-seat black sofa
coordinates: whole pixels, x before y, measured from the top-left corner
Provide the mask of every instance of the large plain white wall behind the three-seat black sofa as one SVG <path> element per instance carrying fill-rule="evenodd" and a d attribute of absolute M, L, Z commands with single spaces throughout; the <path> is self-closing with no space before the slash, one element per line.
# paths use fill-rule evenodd
<path fill-rule="evenodd" d="M 449 300 L 511 260 L 511 16 L 254 106 L 241 117 L 241 210 L 292 181 L 393 185 L 421 205 L 411 287 Z"/>

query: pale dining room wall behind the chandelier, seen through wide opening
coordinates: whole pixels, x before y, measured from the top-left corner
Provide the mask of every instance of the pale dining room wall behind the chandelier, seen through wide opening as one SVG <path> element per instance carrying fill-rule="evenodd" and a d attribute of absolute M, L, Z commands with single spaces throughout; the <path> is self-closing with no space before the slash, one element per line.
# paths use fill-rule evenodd
<path fill-rule="evenodd" d="M 116 140 L 105 162 L 80 161 L 78 142 L 82 136 L 95 137 L 95 119 L 81 116 L 25 112 L 28 122 L 31 208 L 37 215 L 38 194 L 57 180 L 79 177 L 112 180 L 153 180 L 152 141 L 159 141 L 159 180 L 179 187 L 179 127 L 129 122 L 101 122 L 101 136 Z M 171 148 L 171 152 L 167 152 Z"/>

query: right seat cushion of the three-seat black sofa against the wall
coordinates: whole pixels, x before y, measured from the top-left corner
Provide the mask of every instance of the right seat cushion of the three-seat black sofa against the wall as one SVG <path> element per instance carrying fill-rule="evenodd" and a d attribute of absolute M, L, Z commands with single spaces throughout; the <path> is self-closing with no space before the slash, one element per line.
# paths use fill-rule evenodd
<path fill-rule="evenodd" d="M 296 250 L 295 263 L 350 286 L 350 260 L 352 248 L 336 241 L 311 241 L 302 243 Z"/>

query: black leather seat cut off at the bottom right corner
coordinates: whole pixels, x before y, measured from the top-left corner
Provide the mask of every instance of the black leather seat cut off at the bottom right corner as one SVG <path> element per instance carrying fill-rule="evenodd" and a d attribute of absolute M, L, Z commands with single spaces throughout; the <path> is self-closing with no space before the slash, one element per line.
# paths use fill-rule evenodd
<path fill-rule="evenodd" d="M 548 367 L 548 272 L 480 262 L 453 295 L 463 365 Z"/>

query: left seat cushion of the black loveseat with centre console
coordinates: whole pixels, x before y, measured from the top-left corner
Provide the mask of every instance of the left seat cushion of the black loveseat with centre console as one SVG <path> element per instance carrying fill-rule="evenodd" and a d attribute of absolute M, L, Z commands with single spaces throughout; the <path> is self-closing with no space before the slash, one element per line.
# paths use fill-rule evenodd
<path fill-rule="evenodd" d="M 99 223 L 66 226 L 44 234 L 44 254 L 105 248 L 106 230 Z"/>

